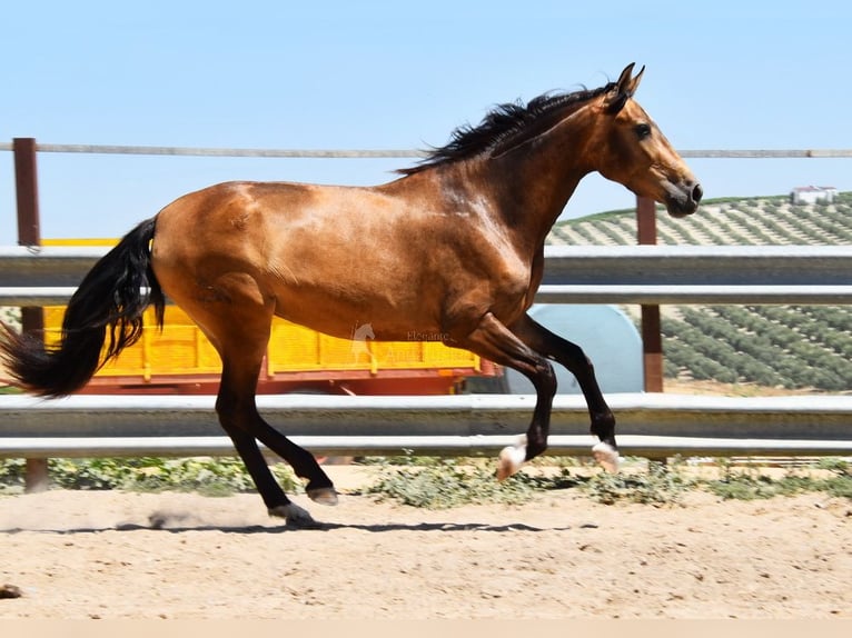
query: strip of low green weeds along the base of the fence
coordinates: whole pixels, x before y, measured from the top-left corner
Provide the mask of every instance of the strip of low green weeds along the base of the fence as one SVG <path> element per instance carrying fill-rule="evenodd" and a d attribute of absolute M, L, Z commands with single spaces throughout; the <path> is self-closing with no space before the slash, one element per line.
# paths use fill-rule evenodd
<path fill-rule="evenodd" d="M 692 489 L 705 489 L 723 499 L 754 500 L 801 492 L 824 492 L 852 499 L 852 467 L 843 459 L 823 459 L 818 469 L 829 478 L 787 472 L 773 479 L 760 468 L 735 468 L 719 459 L 717 479 L 693 479 L 675 459 L 671 465 L 650 462 L 647 469 L 633 467 L 620 473 L 595 472 L 572 476 L 571 459 L 533 462 L 525 471 L 498 482 L 491 459 L 442 459 L 407 456 L 384 462 L 378 479 L 363 494 L 377 500 L 393 500 L 412 507 L 444 509 L 469 504 L 523 505 L 548 490 L 578 488 L 588 498 L 605 505 L 636 502 L 654 506 L 677 505 Z M 547 470 L 539 472 L 545 463 Z M 236 458 L 188 459 L 50 459 L 51 485 L 63 489 L 123 489 L 129 491 L 195 491 L 206 496 L 254 492 L 255 487 L 242 462 Z M 0 460 L 0 492 L 23 487 L 23 460 Z M 289 467 L 270 468 L 285 491 L 298 492 L 299 481 Z"/>

